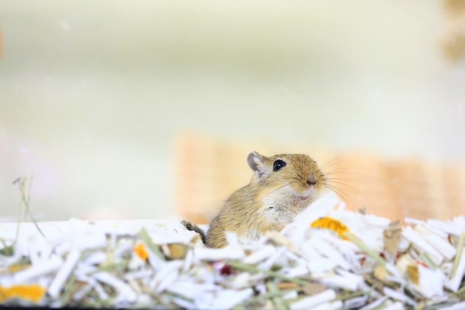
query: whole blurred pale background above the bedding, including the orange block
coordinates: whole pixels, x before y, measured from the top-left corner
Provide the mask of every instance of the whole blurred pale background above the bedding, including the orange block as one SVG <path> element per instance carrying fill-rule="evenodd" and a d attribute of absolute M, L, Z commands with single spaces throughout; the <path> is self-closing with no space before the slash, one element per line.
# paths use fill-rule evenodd
<path fill-rule="evenodd" d="M 38 220 L 205 222 L 251 150 L 337 158 L 351 208 L 463 214 L 463 3 L 2 0 L 0 218 L 33 175 Z"/>

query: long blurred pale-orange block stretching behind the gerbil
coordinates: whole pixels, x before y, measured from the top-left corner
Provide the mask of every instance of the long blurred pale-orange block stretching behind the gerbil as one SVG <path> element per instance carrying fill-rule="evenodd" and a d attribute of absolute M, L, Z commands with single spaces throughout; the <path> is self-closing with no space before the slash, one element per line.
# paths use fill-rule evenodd
<path fill-rule="evenodd" d="M 307 153 L 326 167 L 351 210 L 396 220 L 406 216 L 446 219 L 464 213 L 465 165 L 439 165 L 417 159 L 388 161 L 369 152 L 343 155 L 324 148 L 226 141 L 197 135 L 175 139 L 175 205 L 183 218 L 207 223 L 236 189 L 249 183 L 246 157 L 252 150 Z"/>

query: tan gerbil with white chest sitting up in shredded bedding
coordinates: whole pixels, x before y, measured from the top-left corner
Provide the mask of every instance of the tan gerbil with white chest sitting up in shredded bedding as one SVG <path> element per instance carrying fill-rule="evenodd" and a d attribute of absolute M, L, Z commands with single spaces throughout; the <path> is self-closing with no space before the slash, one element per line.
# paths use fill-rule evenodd
<path fill-rule="evenodd" d="M 247 157 L 254 176 L 249 185 L 235 191 L 212 220 L 207 246 L 227 245 L 225 231 L 257 239 L 280 230 L 307 207 L 323 189 L 322 173 L 307 155 L 280 154 Z"/>

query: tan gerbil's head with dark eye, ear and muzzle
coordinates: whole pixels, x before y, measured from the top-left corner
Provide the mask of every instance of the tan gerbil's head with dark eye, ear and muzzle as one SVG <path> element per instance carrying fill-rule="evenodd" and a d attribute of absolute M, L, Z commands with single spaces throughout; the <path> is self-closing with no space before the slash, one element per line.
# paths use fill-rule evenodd
<path fill-rule="evenodd" d="M 279 154 L 265 157 L 252 152 L 247 157 L 255 175 L 251 186 L 263 188 L 261 196 L 287 196 L 296 203 L 314 200 L 323 189 L 322 174 L 316 162 L 303 154 Z"/>

